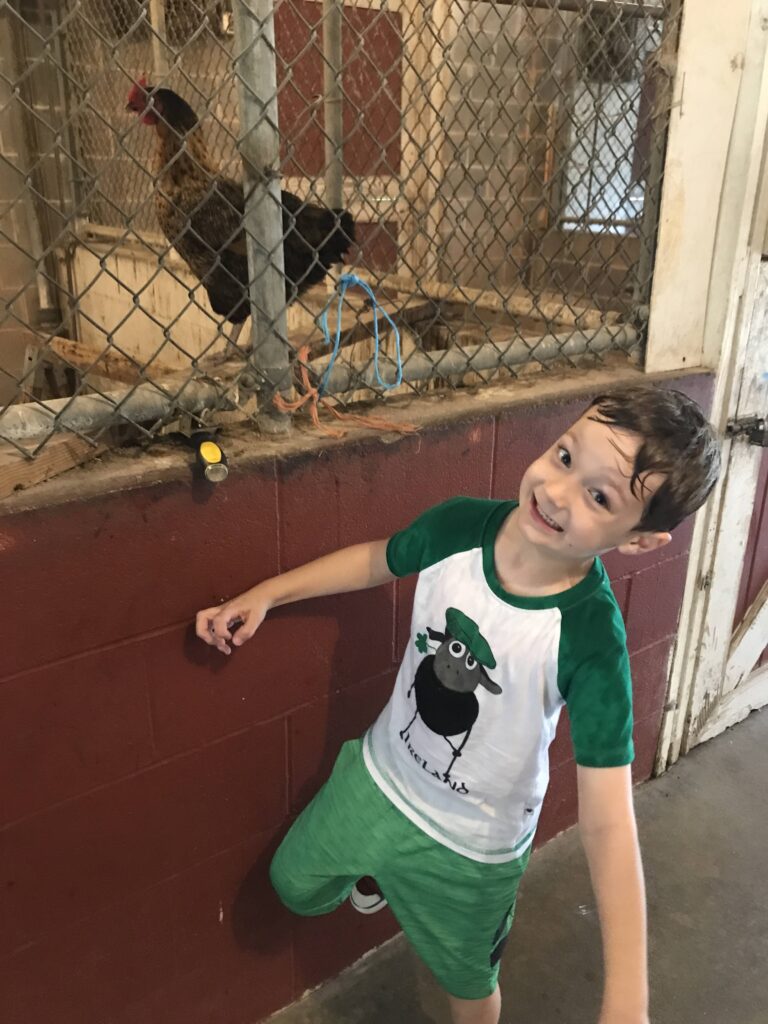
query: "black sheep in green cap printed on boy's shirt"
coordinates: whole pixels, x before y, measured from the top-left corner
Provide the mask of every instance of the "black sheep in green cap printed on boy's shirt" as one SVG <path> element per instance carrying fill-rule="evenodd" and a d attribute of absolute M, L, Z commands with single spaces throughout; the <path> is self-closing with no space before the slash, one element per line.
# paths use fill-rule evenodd
<path fill-rule="evenodd" d="M 480 706 L 475 696 L 478 686 L 488 693 L 499 694 L 501 686 L 487 674 L 487 669 L 496 668 L 496 658 L 476 623 L 458 608 L 445 612 L 443 633 L 427 627 L 430 640 L 438 646 L 434 654 L 428 654 L 416 670 L 416 678 L 408 691 L 416 695 L 416 711 L 406 728 L 400 732 L 404 738 L 417 718 L 431 731 L 442 736 L 452 751 L 451 763 L 443 774 L 451 779 L 451 772 L 458 758 L 462 756 L 472 727 L 477 721 Z M 426 637 L 420 634 L 417 647 L 427 649 Z M 457 737 L 460 740 L 454 742 Z"/>

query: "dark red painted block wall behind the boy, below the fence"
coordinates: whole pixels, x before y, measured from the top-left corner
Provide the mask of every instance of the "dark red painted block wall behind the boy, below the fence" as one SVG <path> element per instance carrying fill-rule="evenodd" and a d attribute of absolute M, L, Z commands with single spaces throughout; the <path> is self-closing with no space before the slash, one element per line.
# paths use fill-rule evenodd
<path fill-rule="evenodd" d="M 708 400 L 708 379 L 683 386 Z M 229 659 L 191 616 L 451 495 L 514 496 L 583 406 L 266 462 L 205 501 L 173 482 L 0 518 L 4 1024 L 253 1024 L 393 933 L 386 913 L 292 918 L 266 868 L 340 741 L 384 705 L 412 582 L 280 609 Z M 607 558 L 638 779 L 689 541 L 684 527 L 657 556 Z M 540 842 L 574 819 L 564 723 L 552 766 Z"/>

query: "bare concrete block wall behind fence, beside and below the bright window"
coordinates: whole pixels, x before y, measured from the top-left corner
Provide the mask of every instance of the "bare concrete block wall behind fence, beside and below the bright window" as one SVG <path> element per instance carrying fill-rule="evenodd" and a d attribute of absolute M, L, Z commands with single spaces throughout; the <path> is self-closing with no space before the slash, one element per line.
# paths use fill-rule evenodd
<path fill-rule="evenodd" d="M 570 134 L 562 122 L 578 15 L 472 2 L 453 17 L 442 278 L 479 288 L 525 283 L 621 308 L 632 296 L 638 239 L 558 226 L 554 176 L 562 177 Z"/>

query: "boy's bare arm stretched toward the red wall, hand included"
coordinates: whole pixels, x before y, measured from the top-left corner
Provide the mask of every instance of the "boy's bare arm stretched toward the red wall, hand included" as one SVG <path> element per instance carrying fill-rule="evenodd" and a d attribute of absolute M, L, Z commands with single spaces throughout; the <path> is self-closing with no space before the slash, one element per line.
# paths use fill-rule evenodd
<path fill-rule="evenodd" d="M 308 597 L 343 594 L 389 583 L 394 577 L 387 566 L 387 544 L 368 541 L 341 548 L 313 562 L 264 580 L 244 594 L 213 608 L 198 612 L 197 634 L 201 640 L 229 654 L 250 640 L 270 608 Z"/>

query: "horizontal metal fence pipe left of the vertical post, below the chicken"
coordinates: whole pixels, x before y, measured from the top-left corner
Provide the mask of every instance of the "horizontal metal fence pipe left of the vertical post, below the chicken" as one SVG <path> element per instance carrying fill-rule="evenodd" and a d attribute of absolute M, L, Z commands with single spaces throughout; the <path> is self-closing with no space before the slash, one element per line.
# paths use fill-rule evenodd
<path fill-rule="evenodd" d="M 170 381 L 167 381 L 170 385 Z M 177 412 L 199 413 L 222 407 L 222 387 L 213 381 L 179 381 L 178 391 L 169 386 L 140 384 L 134 388 L 83 394 L 74 398 L 9 406 L 0 415 L 0 440 L 24 441 L 47 437 L 60 430 L 91 433 L 112 423 L 150 423 Z M 226 408 L 232 408 L 226 403 Z"/>

